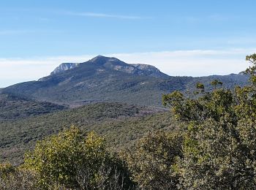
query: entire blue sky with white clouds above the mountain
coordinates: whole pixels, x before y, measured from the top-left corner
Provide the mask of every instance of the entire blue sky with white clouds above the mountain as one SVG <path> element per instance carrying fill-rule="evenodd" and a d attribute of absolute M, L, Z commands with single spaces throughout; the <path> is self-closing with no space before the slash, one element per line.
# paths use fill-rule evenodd
<path fill-rule="evenodd" d="M 0 88 L 97 55 L 173 76 L 227 75 L 256 53 L 255 0 L 1 0 Z"/>

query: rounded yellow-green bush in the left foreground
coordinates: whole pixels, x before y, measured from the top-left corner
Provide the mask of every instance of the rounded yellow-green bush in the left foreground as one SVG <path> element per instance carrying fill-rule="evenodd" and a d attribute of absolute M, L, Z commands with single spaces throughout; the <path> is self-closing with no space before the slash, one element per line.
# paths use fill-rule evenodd
<path fill-rule="evenodd" d="M 75 126 L 37 142 L 34 151 L 26 153 L 23 168 L 37 173 L 38 184 L 45 189 L 54 183 L 67 188 L 94 189 L 99 184 L 107 188 L 110 179 L 129 186 L 127 170 L 106 151 L 102 137 L 94 132 L 85 137 Z"/>

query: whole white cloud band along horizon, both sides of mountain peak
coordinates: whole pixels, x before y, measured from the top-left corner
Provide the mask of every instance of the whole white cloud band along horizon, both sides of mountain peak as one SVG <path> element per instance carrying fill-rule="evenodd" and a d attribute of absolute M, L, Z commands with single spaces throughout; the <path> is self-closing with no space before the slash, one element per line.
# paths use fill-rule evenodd
<path fill-rule="evenodd" d="M 176 50 L 148 53 L 116 53 L 128 64 L 151 64 L 167 75 L 205 76 L 238 73 L 249 66 L 245 56 L 256 49 Z M 0 87 L 49 75 L 63 62 L 80 63 L 97 55 L 56 56 L 48 58 L 0 58 Z"/>

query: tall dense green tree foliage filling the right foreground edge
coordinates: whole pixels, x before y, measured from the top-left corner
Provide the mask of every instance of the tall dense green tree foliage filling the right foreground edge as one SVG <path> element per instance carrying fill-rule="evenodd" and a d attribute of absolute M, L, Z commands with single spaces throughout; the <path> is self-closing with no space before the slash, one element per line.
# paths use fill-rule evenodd
<path fill-rule="evenodd" d="M 256 91 L 254 64 L 246 69 L 251 86 L 224 88 L 191 99 L 180 92 L 163 96 L 178 121 L 186 123 L 184 158 L 177 161 L 181 189 L 256 188 Z"/>

